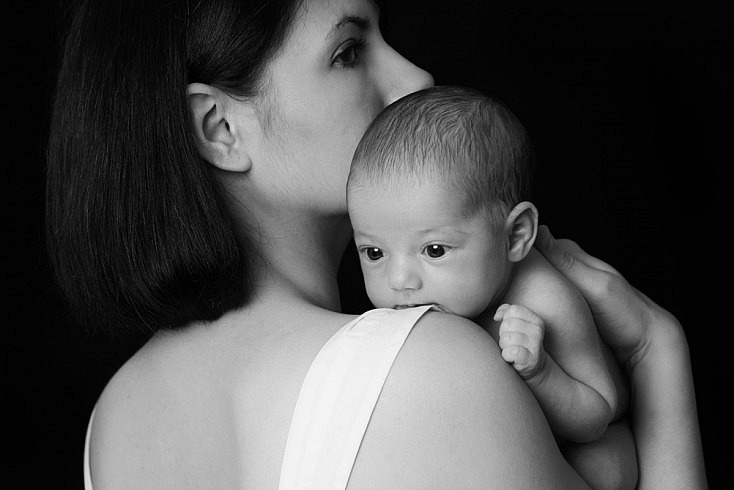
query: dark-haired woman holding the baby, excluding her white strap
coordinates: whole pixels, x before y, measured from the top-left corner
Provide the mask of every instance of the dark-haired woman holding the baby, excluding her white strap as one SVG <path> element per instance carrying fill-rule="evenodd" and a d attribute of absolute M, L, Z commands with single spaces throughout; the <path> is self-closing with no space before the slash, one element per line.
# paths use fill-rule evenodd
<path fill-rule="evenodd" d="M 87 322 L 157 332 L 97 403 L 89 485 L 275 488 L 309 367 L 354 319 L 336 284 L 351 153 L 431 77 L 385 43 L 369 0 L 102 3 L 74 17 L 59 76 L 51 254 Z M 641 486 L 702 486 L 679 326 L 545 243 L 654 395 L 635 400 Z M 661 366 L 680 369 L 673 386 Z M 438 312 L 415 323 L 360 442 L 349 488 L 584 486 L 488 335 Z"/>

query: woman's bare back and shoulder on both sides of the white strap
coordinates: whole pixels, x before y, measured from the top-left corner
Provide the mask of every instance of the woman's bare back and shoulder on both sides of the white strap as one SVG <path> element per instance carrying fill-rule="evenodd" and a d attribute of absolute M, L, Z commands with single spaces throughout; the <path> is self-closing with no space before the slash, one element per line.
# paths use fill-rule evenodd
<path fill-rule="evenodd" d="M 156 336 L 98 404 L 95 490 L 276 488 L 301 383 L 351 318 L 260 304 Z M 534 435 L 510 444 L 515 419 Z M 546 438 L 537 404 L 489 336 L 466 320 L 428 313 L 388 376 L 349 488 L 466 488 L 490 477 L 501 486 L 502 466 L 527 457 L 567 472 L 560 455 L 532 454 L 553 447 L 539 442 Z M 548 478 L 546 465 L 533 465 L 529 480 L 514 483 L 533 481 L 541 468 Z"/>

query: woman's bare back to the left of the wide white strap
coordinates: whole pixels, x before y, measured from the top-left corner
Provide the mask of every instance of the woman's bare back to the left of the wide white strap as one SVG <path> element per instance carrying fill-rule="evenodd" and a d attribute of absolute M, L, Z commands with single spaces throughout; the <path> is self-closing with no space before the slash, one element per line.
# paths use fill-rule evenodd
<path fill-rule="evenodd" d="M 95 489 L 276 487 L 301 382 L 350 318 L 251 308 L 157 334 L 99 400 Z"/>

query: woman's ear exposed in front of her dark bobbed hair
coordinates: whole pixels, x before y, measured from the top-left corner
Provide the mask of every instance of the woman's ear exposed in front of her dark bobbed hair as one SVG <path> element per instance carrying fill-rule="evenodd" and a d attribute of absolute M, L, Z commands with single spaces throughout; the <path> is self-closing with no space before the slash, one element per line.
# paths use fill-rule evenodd
<path fill-rule="evenodd" d="M 252 166 L 247 145 L 249 135 L 246 125 L 235 117 L 238 102 L 203 83 L 189 84 L 186 93 L 199 154 L 221 170 L 247 172 Z"/>

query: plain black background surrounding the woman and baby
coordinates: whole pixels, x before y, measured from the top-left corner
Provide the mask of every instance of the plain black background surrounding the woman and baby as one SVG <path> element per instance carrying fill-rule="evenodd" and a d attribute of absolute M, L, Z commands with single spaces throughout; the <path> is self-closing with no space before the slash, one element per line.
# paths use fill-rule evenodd
<path fill-rule="evenodd" d="M 718 487 L 732 457 L 728 201 L 723 209 L 734 163 L 731 20 L 701 2 L 388 3 L 383 30 L 394 47 L 436 83 L 490 92 L 524 122 L 540 158 L 541 222 L 610 262 L 681 320 L 709 482 Z M 26 482 L 18 488 L 81 488 L 91 408 L 143 339 L 85 334 L 52 287 L 43 144 L 58 2 L 4 10 L 8 468 Z M 355 271 L 349 258 L 342 277 Z M 345 310 L 367 306 L 358 281 L 343 293 Z"/>

